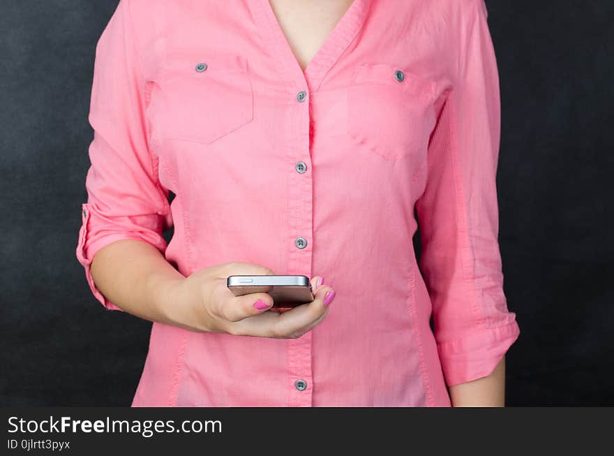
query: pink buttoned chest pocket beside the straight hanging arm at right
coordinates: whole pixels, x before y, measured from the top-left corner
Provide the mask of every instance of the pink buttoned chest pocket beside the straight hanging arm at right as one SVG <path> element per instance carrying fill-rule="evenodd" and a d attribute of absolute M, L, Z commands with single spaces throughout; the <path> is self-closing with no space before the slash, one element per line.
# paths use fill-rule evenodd
<path fill-rule="evenodd" d="M 435 82 L 388 64 L 362 64 L 347 87 L 347 135 L 384 159 L 423 156 L 435 126 Z"/>

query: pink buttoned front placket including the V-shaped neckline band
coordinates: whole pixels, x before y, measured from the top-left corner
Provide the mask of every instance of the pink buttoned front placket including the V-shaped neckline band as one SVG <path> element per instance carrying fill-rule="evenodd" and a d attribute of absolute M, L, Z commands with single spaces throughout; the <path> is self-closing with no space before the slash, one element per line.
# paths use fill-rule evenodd
<path fill-rule="evenodd" d="M 354 0 L 326 41 L 317 50 L 305 71 L 290 48 L 269 0 L 249 0 L 262 39 L 267 43 L 269 57 L 276 74 L 287 83 L 280 91 L 278 105 L 284 110 L 278 128 L 283 133 L 285 169 L 287 170 L 287 230 L 286 274 L 313 274 L 313 162 L 310 144 L 310 94 L 317 90 L 324 75 L 332 68 L 356 36 L 368 6 L 368 0 Z M 317 388 L 312 375 L 313 331 L 297 339 L 287 340 L 288 406 L 312 406 Z"/>

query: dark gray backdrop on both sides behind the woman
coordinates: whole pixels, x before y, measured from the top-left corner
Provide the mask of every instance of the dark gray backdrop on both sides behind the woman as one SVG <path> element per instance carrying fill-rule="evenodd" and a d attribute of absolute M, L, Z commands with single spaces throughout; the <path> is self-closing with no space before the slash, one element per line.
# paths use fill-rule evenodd
<path fill-rule="evenodd" d="M 507 405 L 613 405 L 614 2 L 486 5 L 504 290 L 521 327 Z M 117 0 L 0 6 L 0 405 L 129 405 L 151 323 L 105 311 L 75 258 L 94 51 Z"/>

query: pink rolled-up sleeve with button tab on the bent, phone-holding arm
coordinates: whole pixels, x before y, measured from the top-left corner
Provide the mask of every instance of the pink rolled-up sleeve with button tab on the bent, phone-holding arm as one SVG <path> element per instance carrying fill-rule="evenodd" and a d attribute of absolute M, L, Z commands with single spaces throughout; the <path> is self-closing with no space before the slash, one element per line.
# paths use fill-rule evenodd
<path fill-rule="evenodd" d="M 82 203 L 77 260 L 93 295 L 106 309 L 121 310 L 98 290 L 90 267 L 98 250 L 135 239 L 161 253 L 163 230 L 172 225 L 168 190 L 160 184 L 158 163 L 149 151 L 147 81 L 130 21 L 130 3 L 120 0 L 96 45 L 89 123 L 91 166 Z"/>

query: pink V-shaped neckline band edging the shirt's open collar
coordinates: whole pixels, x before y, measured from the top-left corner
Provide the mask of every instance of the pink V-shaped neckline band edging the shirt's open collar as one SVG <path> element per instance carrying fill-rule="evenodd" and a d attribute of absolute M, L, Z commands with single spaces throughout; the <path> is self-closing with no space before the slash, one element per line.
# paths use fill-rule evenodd
<path fill-rule="evenodd" d="M 317 48 L 305 70 L 301 68 L 299 60 L 292 51 L 290 41 L 285 36 L 269 0 L 251 0 L 249 4 L 257 6 L 253 9 L 255 20 L 265 27 L 262 34 L 270 46 L 270 52 L 274 54 L 277 70 L 289 74 L 292 80 L 300 82 L 301 87 L 306 82 L 308 89 L 313 91 L 317 90 L 324 75 L 332 68 L 340 54 L 357 34 L 364 22 L 367 3 L 368 0 L 352 1 L 352 4 L 324 38 L 322 45 Z"/>

